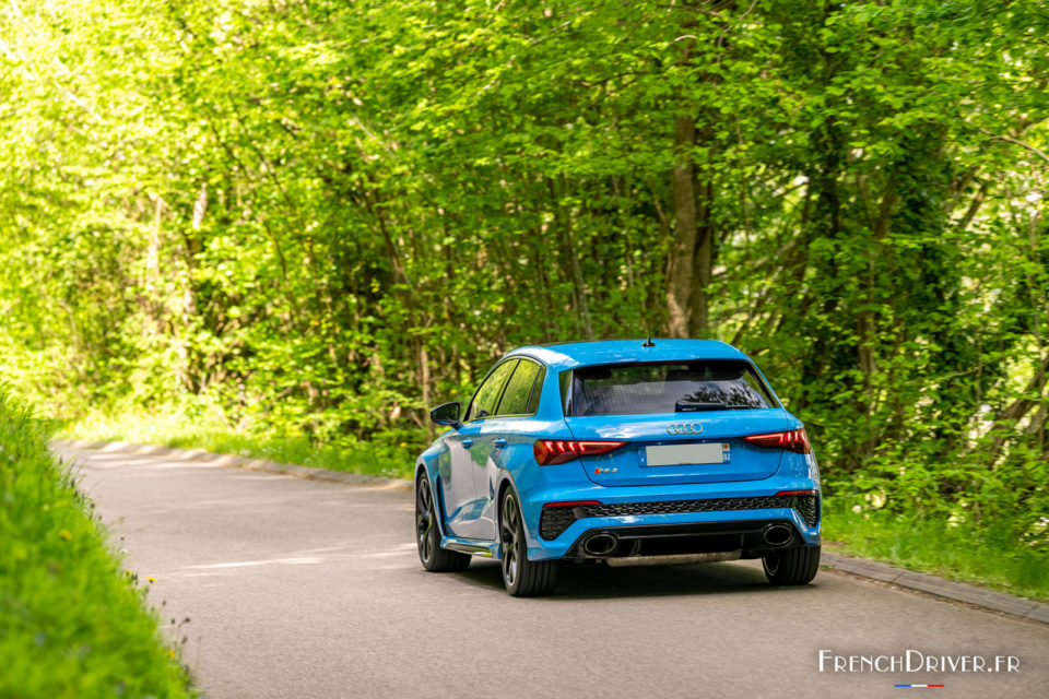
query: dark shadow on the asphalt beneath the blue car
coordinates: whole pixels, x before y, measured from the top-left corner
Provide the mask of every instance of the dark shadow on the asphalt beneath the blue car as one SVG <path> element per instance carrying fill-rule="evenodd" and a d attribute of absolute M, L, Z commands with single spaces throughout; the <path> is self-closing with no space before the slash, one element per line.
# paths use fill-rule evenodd
<path fill-rule="evenodd" d="M 474 559 L 465 572 L 456 573 L 465 583 L 505 594 L 497 561 Z M 816 579 L 818 584 L 818 578 Z M 774 588 L 761 568 L 740 564 L 610 568 L 608 566 L 562 566 L 555 595 L 549 599 L 653 597 L 708 595 L 735 592 L 804 593 L 806 588 Z"/>

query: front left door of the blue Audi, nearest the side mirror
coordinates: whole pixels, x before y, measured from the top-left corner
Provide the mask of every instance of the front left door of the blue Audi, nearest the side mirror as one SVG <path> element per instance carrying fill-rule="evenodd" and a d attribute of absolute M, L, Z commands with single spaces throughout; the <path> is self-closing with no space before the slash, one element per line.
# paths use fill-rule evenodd
<path fill-rule="evenodd" d="M 476 497 L 476 471 L 483 471 L 492 452 L 492 440 L 481 436 L 486 418 L 495 414 L 507 379 L 517 359 L 496 365 L 481 382 L 467 406 L 462 426 L 446 438 L 451 461 L 450 477 L 441 481 L 448 529 L 455 536 L 479 538 L 486 531 L 481 523 L 484 502 Z"/>

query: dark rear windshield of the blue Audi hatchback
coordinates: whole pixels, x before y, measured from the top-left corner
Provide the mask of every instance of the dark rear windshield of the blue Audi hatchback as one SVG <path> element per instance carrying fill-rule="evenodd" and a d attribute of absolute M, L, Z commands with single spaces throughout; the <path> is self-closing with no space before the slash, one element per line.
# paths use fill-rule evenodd
<path fill-rule="evenodd" d="M 746 362 L 584 367 L 563 382 L 565 415 L 647 415 L 778 407 Z"/>

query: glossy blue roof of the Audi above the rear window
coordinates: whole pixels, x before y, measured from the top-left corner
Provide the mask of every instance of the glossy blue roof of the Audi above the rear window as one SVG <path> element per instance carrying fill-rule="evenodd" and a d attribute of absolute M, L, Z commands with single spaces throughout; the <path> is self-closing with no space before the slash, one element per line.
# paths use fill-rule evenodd
<path fill-rule="evenodd" d="M 745 354 L 719 340 L 670 340 L 652 339 L 655 346 L 646 347 L 646 339 L 594 340 L 591 342 L 566 342 L 551 345 L 518 347 L 507 357 L 528 355 L 540 359 L 552 369 L 599 364 L 627 364 L 636 362 L 680 362 L 683 359 L 743 359 Z"/>

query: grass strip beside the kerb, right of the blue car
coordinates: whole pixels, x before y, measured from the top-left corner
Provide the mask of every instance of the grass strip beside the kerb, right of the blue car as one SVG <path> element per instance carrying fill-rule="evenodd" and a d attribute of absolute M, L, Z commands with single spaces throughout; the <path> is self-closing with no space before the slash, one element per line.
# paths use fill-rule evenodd
<path fill-rule="evenodd" d="M 1010 522 L 978 529 L 940 517 L 852 507 L 827 499 L 824 538 L 840 546 L 825 549 L 1049 602 L 1049 556 L 1017 541 Z"/>

